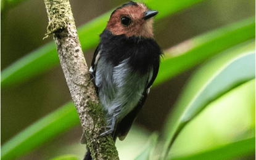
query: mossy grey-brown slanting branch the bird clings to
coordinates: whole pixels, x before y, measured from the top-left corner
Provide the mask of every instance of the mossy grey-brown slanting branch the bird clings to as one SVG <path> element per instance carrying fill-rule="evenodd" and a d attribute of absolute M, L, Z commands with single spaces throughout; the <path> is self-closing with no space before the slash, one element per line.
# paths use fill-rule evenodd
<path fill-rule="evenodd" d="M 75 22 L 68 0 L 44 0 L 49 25 L 47 36 L 54 34 L 60 65 L 85 132 L 85 139 L 93 158 L 118 159 L 115 143 L 104 132 L 105 120 L 102 109 L 90 81 L 91 74 L 81 50 Z M 47 37 L 46 36 L 46 37 Z"/>

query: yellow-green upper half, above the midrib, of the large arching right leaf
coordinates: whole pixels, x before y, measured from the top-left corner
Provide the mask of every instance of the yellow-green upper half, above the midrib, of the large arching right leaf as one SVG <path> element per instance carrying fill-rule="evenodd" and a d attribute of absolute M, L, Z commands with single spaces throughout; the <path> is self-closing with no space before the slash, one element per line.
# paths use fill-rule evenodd
<path fill-rule="evenodd" d="M 221 52 L 217 57 L 205 63 L 196 71 L 196 73 L 194 73 L 194 76 L 192 76 L 189 83 L 184 86 L 185 90 L 176 103 L 175 110 L 171 111 L 170 116 L 168 116 L 169 119 L 165 125 L 165 137 L 170 137 L 170 130 L 173 129 L 175 122 L 178 121 L 178 118 L 181 116 L 186 106 L 188 106 L 189 102 L 192 101 L 194 95 L 197 94 L 198 90 L 200 90 L 207 81 L 209 81 L 212 75 L 232 58 L 241 55 L 243 52 L 249 52 L 250 50 L 255 50 L 255 40 L 239 44 Z"/>

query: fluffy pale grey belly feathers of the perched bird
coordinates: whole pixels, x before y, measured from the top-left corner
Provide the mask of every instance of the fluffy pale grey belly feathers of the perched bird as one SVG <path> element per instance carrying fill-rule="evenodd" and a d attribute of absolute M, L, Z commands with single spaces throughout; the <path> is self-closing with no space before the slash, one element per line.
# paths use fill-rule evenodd
<path fill-rule="evenodd" d="M 152 75 L 134 73 L 128 66 L 128 59 L 115 67 L 103 66 L 103 61 L 100 59 L 97 62 L 95 82 L 99 87 L 102 108 L 107 113 L 107 123 L 111 125 L 112 118 L 120 121 L 138 104 Z"/>

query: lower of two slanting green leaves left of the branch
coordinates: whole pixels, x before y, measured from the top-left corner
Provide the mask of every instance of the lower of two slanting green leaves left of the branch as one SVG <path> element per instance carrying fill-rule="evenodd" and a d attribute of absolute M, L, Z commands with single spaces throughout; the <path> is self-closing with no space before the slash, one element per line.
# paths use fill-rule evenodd
<path fill-rule="evenodd" d="M 47 115 L 1 146 L 1 159 L 15 159 L 80 124 L 73 102 Z"/>

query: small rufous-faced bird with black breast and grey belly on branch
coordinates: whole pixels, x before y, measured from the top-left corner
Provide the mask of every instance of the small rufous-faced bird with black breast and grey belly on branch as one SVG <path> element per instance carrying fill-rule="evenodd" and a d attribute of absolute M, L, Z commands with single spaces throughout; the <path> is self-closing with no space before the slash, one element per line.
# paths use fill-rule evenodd
<path fill-rule="evenodd" d="M 106 131 L 123 140 L 159 71 L 162 50 L 153 38 L 157 10 L 128 2 L 112 12 L 94 52 L 90 72 L 107 121 Z M 90 152 L 85 159 L 91 159 Z"/>

